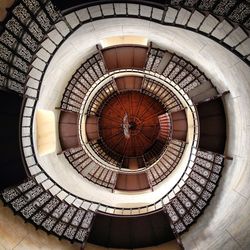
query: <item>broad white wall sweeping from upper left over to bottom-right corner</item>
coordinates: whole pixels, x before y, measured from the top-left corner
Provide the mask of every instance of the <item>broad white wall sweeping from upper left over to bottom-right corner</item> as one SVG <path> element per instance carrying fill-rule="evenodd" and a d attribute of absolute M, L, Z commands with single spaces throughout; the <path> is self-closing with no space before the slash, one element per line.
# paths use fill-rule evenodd
<path fill-rule="evenodd" d="M 231 52 L 199 34 L 149 21 L 96 21 L 82 26 L 65 43 L 67 49 L 64 53 L 52 60 L 56 67 L 48 68 L 39 107 L 53 110 L 59 104 L 67 81 L 86 58 L 86 53 L 93 50 L 100 39 L 112 35 L 148 37 L 153 43 L 198 65 L 220 91 L 230 90 L 231 94 L 225 98 L 228 119 L 226 154 L 234 159 L 226 161 L 220 186 L 210 206 L 182 238 L 185 248 L 192 250 L 249 249 L 250 70 Z"/>

